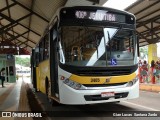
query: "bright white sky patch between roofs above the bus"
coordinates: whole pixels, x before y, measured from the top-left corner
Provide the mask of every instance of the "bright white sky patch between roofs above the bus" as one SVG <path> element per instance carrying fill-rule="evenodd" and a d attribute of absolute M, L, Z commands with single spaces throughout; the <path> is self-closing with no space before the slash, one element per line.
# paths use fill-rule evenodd
<path fill-rule="evenodd" d="M 108 0 L 103 6 L 124 10 L 137 0 Z"/>

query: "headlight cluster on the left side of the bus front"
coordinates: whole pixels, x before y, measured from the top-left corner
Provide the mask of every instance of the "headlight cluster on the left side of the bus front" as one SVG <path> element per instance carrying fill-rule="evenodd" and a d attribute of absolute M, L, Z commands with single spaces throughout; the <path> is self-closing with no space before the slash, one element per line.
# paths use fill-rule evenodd
<path fill-rule="evenodd" d="M 66 85 L 68 85 L 68 86 L 70 86 L 73 89 L 76 89 L 76 90 L 83 90 L 83 89 L 85 89 L 85 87 L 82 84 L 77 83 L 75 81 L 72 81 L 72 80 L 70 80 L 68 78 L 65 78 L 63 80 L 63 83 L 66 84 Z"/>

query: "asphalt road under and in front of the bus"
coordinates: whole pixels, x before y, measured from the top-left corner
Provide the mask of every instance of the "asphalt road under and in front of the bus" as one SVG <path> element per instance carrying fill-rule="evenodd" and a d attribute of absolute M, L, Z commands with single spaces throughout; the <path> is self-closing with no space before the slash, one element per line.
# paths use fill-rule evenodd
<path fill-rule="evenodd" d="M 40 92 L 36 96 L 53 120 L 160 120 L 160 94 L 140 91 L 140 97 L 120 103 L 54 105 Z M 158 111 L 158 112 L 157 112 Z M 58 117 L 55 117 L 58 116 Z"/>

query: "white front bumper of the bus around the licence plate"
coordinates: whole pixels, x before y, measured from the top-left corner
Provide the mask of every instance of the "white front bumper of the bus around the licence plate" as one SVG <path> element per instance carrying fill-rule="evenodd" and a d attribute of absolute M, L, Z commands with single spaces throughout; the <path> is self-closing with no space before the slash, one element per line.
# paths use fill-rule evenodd
<path fill-rule="evenodd" d="M 60 103 L 62 104 L 96 104 L 106 102 L 116 102 L 139 97 L 139 81 L 132 87 L 106 88 L 96 90 L 75 90 L 66 84 L 62 84 L 60 89 Z M 114 93 L 114 96 L 103 97 L 103 93 Z"/>

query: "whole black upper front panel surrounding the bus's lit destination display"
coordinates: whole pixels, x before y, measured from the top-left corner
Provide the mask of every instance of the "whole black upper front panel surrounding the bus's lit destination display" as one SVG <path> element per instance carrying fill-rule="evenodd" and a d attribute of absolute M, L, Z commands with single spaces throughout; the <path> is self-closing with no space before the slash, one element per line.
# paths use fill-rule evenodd
<path fill-rule="evenodd" d="M 68 7 L 60 11 L 60 24 L 79 24 L 88 25 L 118 25 L 121 23 L 135 24 L 135 17 L 124 11 L 105 9 L 99 7 Z M 114 24 L 110 24 L 114 23 Z"/>

